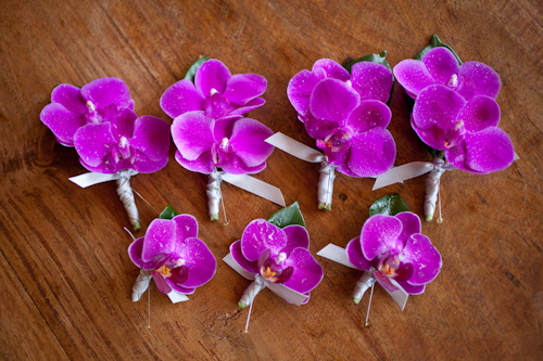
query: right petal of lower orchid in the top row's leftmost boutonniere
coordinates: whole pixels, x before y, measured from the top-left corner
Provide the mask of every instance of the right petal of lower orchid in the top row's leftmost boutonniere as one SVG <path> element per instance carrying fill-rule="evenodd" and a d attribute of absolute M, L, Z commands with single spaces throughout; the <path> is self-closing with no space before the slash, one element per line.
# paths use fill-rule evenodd
<path fill-rule="evenodd" d="M 161 118 L 143 115 L 136 120 L 130 145 L 150 160 L 161 162 L 169 152 L 169 125 Z"/>

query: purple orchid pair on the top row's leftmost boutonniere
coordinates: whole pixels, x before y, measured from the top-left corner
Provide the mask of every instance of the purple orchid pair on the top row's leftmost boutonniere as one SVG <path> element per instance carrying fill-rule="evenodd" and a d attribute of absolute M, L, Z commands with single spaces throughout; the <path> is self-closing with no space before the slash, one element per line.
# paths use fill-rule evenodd
<path fill-rule="evenodd" d="M 81 88 L 58 86 L 40 119 L 59 143 L 76 149 L 81 165 L 91 171 L 150 173 L 168 162 L 168 124 L 154 116 L 138 117 L 128 87 L 117 78 L 97 79 Z"/>

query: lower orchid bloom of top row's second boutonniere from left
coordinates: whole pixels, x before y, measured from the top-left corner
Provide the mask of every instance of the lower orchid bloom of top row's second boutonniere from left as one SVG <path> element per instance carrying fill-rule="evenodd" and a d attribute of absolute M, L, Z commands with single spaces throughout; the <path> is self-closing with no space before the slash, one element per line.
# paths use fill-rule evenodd
<path fill-rule="evenodd" d="M 172 125 L 177 162 L 191 171 L 206 175 L 216 167 L 231 175 L 263 170 L 274 151 L 264 140 L 273 133 L 254 119 L 241 116 L 213 119 L 201 111 L 184 113 Z"/>

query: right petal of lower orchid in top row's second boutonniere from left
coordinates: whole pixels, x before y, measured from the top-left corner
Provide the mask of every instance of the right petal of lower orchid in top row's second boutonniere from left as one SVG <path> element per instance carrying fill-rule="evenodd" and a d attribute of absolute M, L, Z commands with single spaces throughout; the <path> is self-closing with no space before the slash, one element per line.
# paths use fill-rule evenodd
<path fill-rule="evenodd" d="M 273 134 L 274 131 L 262 123 L 241 118 L 233 124 L 229 144 L 245 166 L 256 167 L 274 152 L 274 146 L 265 142 Z"/>

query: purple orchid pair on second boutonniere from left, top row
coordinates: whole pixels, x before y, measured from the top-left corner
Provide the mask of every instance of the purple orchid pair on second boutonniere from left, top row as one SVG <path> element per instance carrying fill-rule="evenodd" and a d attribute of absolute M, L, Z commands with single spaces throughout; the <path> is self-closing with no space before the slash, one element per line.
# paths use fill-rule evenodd
<path fill-rule="evenodd" d="M 217 60 L 204 62 L 194 82 L 180 80 L 161 98 L 174 118 L 176 159 L 188 170 L 210 175 L 216 168 L 231 175 L 256 173 L 266 167 L 274 132 L 243 114 L 264 105 L 267 82 L 256 74 L 236 74 Z"/>

